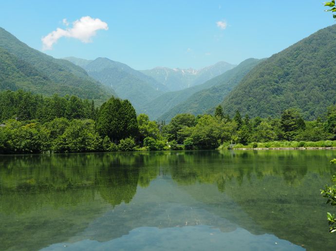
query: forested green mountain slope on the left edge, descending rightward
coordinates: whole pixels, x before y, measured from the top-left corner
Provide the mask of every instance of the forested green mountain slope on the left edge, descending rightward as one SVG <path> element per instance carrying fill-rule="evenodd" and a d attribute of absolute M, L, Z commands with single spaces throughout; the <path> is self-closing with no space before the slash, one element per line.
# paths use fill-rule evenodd
<path fill-rule="evenodd" d="M 2 28 L 0 69 L 0 89 L 69 94 L 99 102 L 116 95 L 111 87 L 93 80 L 82 68 L 32 49 Z"/>

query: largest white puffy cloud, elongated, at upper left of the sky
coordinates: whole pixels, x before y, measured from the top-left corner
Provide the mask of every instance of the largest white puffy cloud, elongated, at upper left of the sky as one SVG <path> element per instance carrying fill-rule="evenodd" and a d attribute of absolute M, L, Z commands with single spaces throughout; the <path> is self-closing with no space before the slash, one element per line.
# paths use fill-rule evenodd
<path fill-rule="evenodd" d="M 63 23 L 68 26 L 69 23 L 66 18 L 63 19 Z M 57 28 L 56 31 L 49 33 L 42 37 L 43 50 L 52 50 L 53 45 L 61 37 L 73 37 L 79 39 L 83 43 L 92 42 L 92 37 L 95 36 L 98 30 L 108 30 L 107 23 L 103 22 L 99 18 L 93 19 L 92 17 L 81 17 L 79 20 L 73 22 L 72 28 L 66 30 Z"/>

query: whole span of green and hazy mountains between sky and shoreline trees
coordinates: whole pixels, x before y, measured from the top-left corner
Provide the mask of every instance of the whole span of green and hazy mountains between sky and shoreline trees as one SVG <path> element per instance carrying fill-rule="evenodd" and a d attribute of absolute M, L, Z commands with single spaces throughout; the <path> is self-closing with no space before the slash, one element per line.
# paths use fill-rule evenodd
<path fill-rule="evenodd" d="M 69 94 L 98 103 L 113 95 L 129 99 L 137 113 L 167 122 L 179 113 L 208 113 L 218 104 L 231 116 L 239 110 L 243 116 L 279 117 L 294 107 L 314 119 L 336 103 L 335 48 L 333 25 L 270 58 L 238 66 L 138 71 L 108 58 L 55 59 L 0 28 L 0 90 Z"/>

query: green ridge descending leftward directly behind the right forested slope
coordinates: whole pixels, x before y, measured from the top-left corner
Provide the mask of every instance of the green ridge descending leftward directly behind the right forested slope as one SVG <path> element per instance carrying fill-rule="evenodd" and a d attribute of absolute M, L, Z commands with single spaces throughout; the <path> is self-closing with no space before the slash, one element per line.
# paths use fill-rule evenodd
<path fill-rule="evenodd" d="M 158 117 L 158 119 L 170 121 L 172 117 L 180 113 L 190 113 L 193 115 L 204 114 L 212 107 L 220 104 L 224 97 L 239 84 L 243 77 L 262 61 L 263 59 L 246 59 L 237 67 L 202 84 L 202 86 L 212 87 L 192 94 L 185 101 L 177 104 L 162 116 Z"/>

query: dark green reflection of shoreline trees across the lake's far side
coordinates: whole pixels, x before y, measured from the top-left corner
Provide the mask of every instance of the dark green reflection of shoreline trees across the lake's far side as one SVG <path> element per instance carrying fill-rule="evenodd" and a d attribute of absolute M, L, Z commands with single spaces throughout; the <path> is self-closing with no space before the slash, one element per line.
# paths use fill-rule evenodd
<path fill-rule="evenodd" d="M 36 207 L 25 199 L 29 196 L 36 198 L 38 206 L 93 200 L 95 192 L 112 206 L 129 203 L 137 185 L 148 186 L 159 174 L 159 167 L 178 184 L 217 184 L 222 192 L 227 181 L 234 179 L 242 185 L 251 183 L 252 176 L 279 176 L 297 186 L 308 169 L 329 171 L 320 165 L 329 155 L 332 152 L 172 151 L 2 156 L 0 201 L 6 205 L 8 198 L 15 197 L 21 203 L 2 206 L 0 211 Z M 71 192 L 61 196 L 60 191 Z"/>

